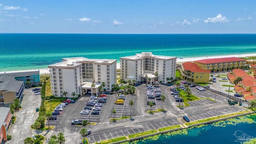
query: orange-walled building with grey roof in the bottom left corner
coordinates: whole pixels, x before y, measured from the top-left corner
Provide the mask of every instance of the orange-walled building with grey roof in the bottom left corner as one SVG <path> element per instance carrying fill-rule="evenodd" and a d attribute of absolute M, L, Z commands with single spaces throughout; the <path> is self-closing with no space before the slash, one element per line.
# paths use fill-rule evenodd
<path fill-rule="evenodd" d="M 0 107 L 0 144 L 7 141 L 8 130 L 12 122 L 10 108 Z"/>

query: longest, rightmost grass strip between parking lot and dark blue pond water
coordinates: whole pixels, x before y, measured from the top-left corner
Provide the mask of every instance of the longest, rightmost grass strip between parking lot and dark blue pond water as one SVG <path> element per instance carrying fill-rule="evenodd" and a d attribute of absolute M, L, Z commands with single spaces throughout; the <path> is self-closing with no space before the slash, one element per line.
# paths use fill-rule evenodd
<path fill-rule="evenodd" d="M 246 114 L 250 114 L 251 112 L 244 110 L 241 112 L 235 112 L 235 113 L 231 113 L 231 114 L 224 114 L 221 116 L 215 116 L 215 117 L 211 117 L 211 118 L 205 118 L 202 120 L 197 120 L 197 121 L 193 121 L 193 122 L 188 122 L 185 123 L 188 127 L 192 127 L 192 126 L 197 126 L 197 125 L 201 125 L 201 124 L 209 124 L 212 122 L 216 122 L 216 121 L 220 121 L 220 120 L 226 120 L 228 118 L 234 118 L 234 117 L 238 117 L 238 116 L 243 116 Z"/>

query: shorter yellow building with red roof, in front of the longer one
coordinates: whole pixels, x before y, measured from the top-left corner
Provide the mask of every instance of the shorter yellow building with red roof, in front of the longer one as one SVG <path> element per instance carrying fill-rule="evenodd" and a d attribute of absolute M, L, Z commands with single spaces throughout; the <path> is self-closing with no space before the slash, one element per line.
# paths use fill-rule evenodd
<path fill-rule="evenodd" d="M 203 70 L 193 62 L 184 62 L 182 64 L 182 76 L 190 82 L 208 83 L 210 70 Z"/>

